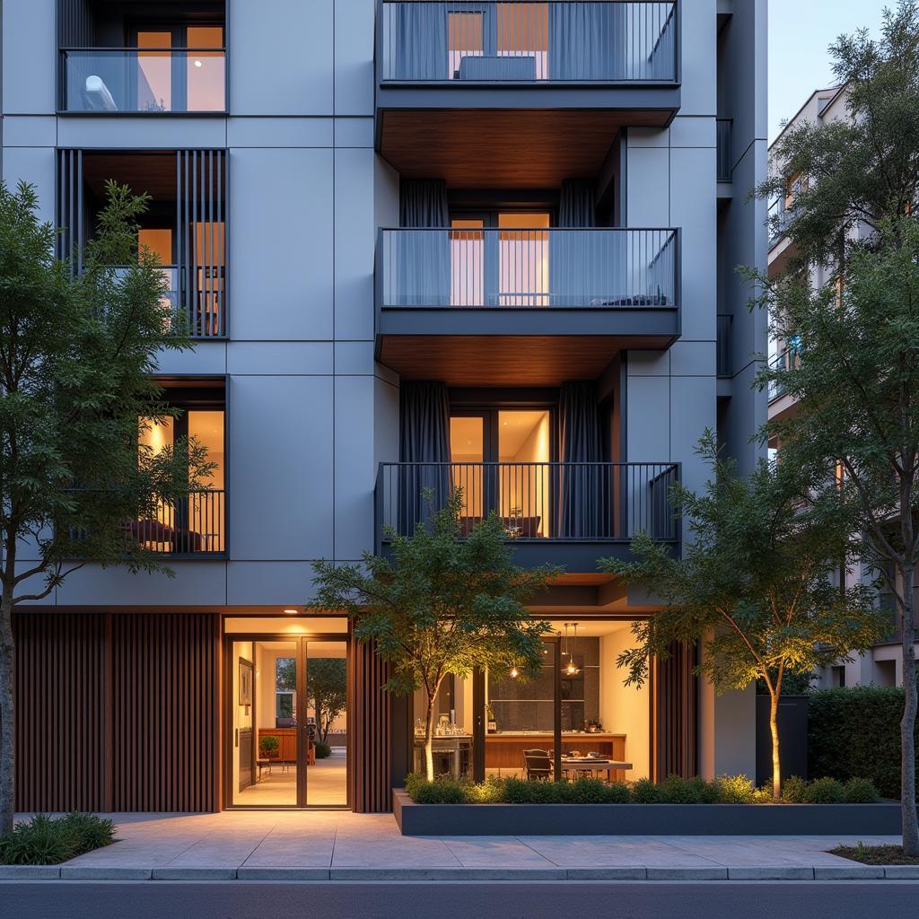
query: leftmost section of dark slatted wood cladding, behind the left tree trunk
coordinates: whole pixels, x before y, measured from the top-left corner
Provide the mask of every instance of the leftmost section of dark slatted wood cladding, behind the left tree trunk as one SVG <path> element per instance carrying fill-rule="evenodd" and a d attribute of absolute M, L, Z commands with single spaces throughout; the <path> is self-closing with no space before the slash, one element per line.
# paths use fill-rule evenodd
<path fill-rule="evenodd" d="M 17 615 L 17 811 L 108 810 L 108 617 Z"/>

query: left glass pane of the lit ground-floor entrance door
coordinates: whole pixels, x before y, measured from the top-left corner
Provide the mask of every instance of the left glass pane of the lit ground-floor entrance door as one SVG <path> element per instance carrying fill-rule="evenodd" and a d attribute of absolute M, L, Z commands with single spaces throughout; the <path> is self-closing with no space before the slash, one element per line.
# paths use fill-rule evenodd
<path fill-rule="evenodd" d="M 233 641 L 233 804 L 297 804 L 297 641 Z"/>

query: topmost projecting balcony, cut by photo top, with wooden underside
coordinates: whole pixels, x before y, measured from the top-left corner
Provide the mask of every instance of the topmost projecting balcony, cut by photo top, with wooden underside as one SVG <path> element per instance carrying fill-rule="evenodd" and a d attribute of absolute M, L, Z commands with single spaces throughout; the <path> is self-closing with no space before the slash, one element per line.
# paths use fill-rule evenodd
<path fill-rule="evenodd" d="M 675 0 L 380 0 L 377 149 L 452 186 L 596 175 L 618 130 L 678 111 L 679 14 Z"/>

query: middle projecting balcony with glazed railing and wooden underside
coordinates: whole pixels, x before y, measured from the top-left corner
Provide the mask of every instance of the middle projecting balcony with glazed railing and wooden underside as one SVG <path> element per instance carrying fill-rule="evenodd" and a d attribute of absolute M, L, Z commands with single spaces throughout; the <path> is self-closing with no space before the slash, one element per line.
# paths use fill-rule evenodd
<path fill-rule="evenodd" d="M 680 334 L 676 230 L 381 230 L 376 286 L 376 357 L 406 380 L 595 380 Z"/>

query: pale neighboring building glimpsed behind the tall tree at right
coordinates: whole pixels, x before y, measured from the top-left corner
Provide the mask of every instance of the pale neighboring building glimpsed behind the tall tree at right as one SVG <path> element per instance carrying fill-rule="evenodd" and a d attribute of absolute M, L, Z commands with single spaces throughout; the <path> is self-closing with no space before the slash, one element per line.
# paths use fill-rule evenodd
<path fill-rule="evenodd" d="M 831 86 L 828 89 L 818 89 L 807 100 L 800 111 L 784 130 L 793 129 L 800 124 L 829 124 L 839 119 L 849 117 L 846 108 L 846 86 Z M 783 131 L 784 132 L 784 131 Z M 781 135 L 779 135 L 781 136 Z M 776 142 L 770 147 L 770 159 Z M 793 178 L 789 181 L 787 194 L 772 203 L 770 216 L 778 212 L 784 214 L 794 206 L 794 200 L 800 190 L 800 179 Z M 781 225 L 781 224 L 780 224 Z M 853 232 L 857 237 L 859 233 L 867 233 L 864 228 Z M 793 244 L 781 231 L 771 233 L 769 240 L 769 274 L 777 275 L 789 255 L 793 254 Z M 833 280 L 831 269 L 814 266 L 811 269 L 811 283 L 816 287 L 823 287 Z M 796 354 L 795 343 L 773 341 L 770 345 L 770 360 L 774 366 L 791 366 L 792 361 L 800 360 Z M 787 392 L 782 391 L 775 384 L 769 389 L 769 420 L 780 421 L 793 416 L 797 410 L 797 400 Z M 769 443 L 771 450 L 781 450 L 781 443 L 773 438 Z M 873 583 L 877 580 L 877 573 L 868 568 L 859 567 L 856 571 L 848 573 L 846 578 L 849 584 L 864 580 Z M 895 601 L 892 594 L 881 592 L 878 597 L 879 606 L 891 611 L 891 631 L 884 641 L 872 647 L 868 652 L 854 655 L 853 660 L 840 660 L 836 664 L 821 668 L 817 673 L 815 686 L 821 688 L 830 686 L 857 686 L 859 684 L 875 683 L 879 686 L 902 685 L 902 632 L 897 622 Z"/>

